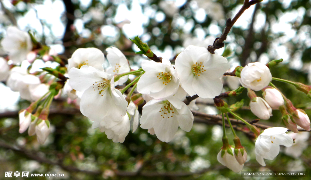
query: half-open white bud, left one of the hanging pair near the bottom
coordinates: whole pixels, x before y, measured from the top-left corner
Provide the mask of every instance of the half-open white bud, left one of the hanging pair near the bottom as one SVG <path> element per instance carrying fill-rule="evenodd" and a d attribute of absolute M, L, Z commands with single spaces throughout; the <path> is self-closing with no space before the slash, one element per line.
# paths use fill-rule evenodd
<path fill-rule="evenodd" d="M 232 152 L 234 151 L 234 148 L 231 147 Z M 221 157 L 221 151 L 217 154 L 217 160 L 220 162 L 220 164 L 227 166 L 227 168 L 231 169 L 235 173 L 239 173 L 242 169 L 244 164 L 239 164 L 239 162 L 236 160 L 234 155 L 229 154 L 227 151 L 225 151 L 225 154 Z"/>

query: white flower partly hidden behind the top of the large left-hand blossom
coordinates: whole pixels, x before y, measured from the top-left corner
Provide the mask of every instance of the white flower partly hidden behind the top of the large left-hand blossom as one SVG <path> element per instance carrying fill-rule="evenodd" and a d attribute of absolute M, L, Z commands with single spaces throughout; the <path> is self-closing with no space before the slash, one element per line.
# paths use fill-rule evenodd
<path fill-rule="evenodd" d="M 68 72 L 71 68 L 81 68 L 83 65 L 92 66 L 98 70 L 104 70 L 104 53 L 95 47 L 79 48 L 68 59 Z"/>

